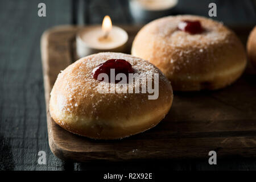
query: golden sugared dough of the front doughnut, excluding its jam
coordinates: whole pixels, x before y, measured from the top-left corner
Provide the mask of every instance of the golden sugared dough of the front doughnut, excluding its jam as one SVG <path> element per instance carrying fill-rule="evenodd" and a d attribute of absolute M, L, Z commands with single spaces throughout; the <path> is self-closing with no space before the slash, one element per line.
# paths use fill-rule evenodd
<path fill-rule="evenodd" d="M 99 86 L 108 87 L 109 83 L 95 80 L 92 70 L 109 59 L 129 61 L 139 78 L 158 73 L 159 97 L 148 100 L 152 94 L 142 93 L 141 88 L 139 93 L 99 93 Z M 127 85 L 135 87 L 134 83 Z M 72 133 L 94 139 L 119 139 L 157 125 L 170 110 L 172 99 L 170 81 L 154 65 L 131 55 L 104 52 L 83 57 L 59 74 L 49 111 L 58 125 Z"/>

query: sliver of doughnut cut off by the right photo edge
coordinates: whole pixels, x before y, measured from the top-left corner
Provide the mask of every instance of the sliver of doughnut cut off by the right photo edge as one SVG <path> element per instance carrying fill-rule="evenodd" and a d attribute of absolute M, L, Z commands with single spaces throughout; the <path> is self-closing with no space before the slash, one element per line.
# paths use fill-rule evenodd
<path fill-rule="evenodd" d="M 256 68 L 256 26 L 251 31 L 247 41 L 247 55 L 248 59 Z"/>

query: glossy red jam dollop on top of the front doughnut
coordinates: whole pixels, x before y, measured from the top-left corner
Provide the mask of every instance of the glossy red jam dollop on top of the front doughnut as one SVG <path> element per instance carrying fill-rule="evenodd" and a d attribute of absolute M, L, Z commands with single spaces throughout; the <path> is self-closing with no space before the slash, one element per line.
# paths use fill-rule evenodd
<path fill-rule="evenodd" d="M 110 82 L 110 69 L 114 69 L 115 76 L 118 73 L 125 73 L 126 77 L 128 78 L 129 73 L 133 73 L 133 68 L 128 61 L 124 59 L 110 59 L 94 68 L 92 71 L 92 76 L 95 80 L 103 81 L 103 78 L 98 79 L 98 75 L 100 75 L 100 73 L 106 73 L 109 77 L 108 81 Z M 115 81 L 115 83 L 117 82 L 119 82 L 119 80 Z"/>

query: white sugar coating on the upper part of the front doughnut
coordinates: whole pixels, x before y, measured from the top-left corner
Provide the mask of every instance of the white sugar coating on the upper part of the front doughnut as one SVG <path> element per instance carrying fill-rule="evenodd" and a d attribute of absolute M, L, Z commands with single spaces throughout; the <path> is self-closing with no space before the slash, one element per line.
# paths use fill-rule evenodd
<path fill-rule="evenodd" d="M 98 93 L 98 86 L 100 86 L 101 88 L 104 86 L 106 88 L 109 88 L 114 83 L 108 83 L 104 81 L 100 82 L 98 80 L 95 80 L 92 77 L 92 70 L 99 64 L 104 63 L 106 60 L 109 59 L 124 59 L 126 61 L 129 61 L 134 69 L 134 73 L 138 73 L 141 84 L 146 84 L 145 77 L 147 77 L 147 75 L 152 75 L 154 81 L 154 73 L 158 73 L 159 82 L 161 82 L 164 87 L 167 87 L 171 90 L 170 81 L 167 80 L 167 78 L 163 75 L 162 72 L 160 72 L 158 68 L 148 63 L 148 61 L 123 53 L 98 53 L 97 55 L 91 55 L 85 58 L 81 58 L 72 65 L 69 65 L 67 69 L 59 73 L 55 83 L 55 85 L 59 85 L 62 87 L 57 94 L 57 105 L 59 110 L 72 113 L 72 111 L 75 111 L 77 107 L 80 107 L 80 101 L 82 98 L 82 100 L 90 101 L 92 108 L 91 114 L 94 115 L 95 113 L 93 111 L 95 110 L 95 112 L 97 113 L 97 106 L 101 105 L 102 102 L 105 102 L 106 100 L 112 100 L 112 102 L 114 103 L 116 102 L 117 104 L 121 104 L 122 102 L 126 102 L 127 100 L 129 100 L 129 98 L 133 97 L 133 94 L 129 93 L 114 93 L 114 97 L 113 94 L 110 93 Z M 62 82 L 61 84 L 60 80 Z M 63 82 L 63 80 L 65 80 L 65 82 Z M 134 82 L 126 85 L 129 86 L 131 84 L 133 88 L 135 88 Z M 116 92 L 118 92 L 118 88 L 115 89 Z M 57 91 L 55 88 L 53 88 L 53 90 L 55 90 L 55 92 Z M 64 95 L 63 90 L 65 90 Z M 139 93 L 142 94 L 141 88 L 139 90 Z M 143 94 L 143 97 L 141 97 L 141 103 L 148 100 L 147 96 L 148 93 Z M 139 105 L 135 107 L 138 107 L 139 109 Z"/>

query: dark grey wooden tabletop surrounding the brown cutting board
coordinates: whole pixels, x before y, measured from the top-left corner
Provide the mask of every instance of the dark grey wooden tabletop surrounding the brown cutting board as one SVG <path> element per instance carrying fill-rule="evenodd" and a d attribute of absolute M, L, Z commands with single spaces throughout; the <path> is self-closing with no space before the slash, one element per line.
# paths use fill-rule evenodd
<path fill-rule="evenodd" d="M 46 17 L 38 17 L 38 3 L 46 3 Z M 217 4 L 217 17 L 228 26 L 256 24 L 255 1 L 180 0 L 170 14 L 208 16 L 210 2 Z M 124 0 L 27 0 L 0 1 L 0 169 L 1 170 L 99 170 L 256 169 L 256 159 L 164 160 L 148 162 L 72 163 L 56 158 L 49 150 L 44 100 L 40 36 L 59 24 L 101 23 L 104 15 L 113 24 L 132 24 Z M 75 11 L 74 11 L 75 10 Z M 38 164 L 38 152 L 46 151 L 47 164 Z M 151 164 L 151 165 L 149 165 Z"/>

